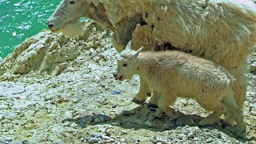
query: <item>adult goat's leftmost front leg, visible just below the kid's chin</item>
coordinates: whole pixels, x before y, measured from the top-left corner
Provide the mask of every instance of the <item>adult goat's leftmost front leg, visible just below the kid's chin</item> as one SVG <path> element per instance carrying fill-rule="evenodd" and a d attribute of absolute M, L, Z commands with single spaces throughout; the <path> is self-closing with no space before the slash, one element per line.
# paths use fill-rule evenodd
<path fill-rule="evenodd" d="M 140 77 L 139 90 L 138 90 L 138 93 L 133 98 L 132 102 L 135 102 L 135 103 L 138 103 L 138 104 L 142 103 L 150 95 L 151 95 L 151 90 L 150 90 L 149 84 Z"/>

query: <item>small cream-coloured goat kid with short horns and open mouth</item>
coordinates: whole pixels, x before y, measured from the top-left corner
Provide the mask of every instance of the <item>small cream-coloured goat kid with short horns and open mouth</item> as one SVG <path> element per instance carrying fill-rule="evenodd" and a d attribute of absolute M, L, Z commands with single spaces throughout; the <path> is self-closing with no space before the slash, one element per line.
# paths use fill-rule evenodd
<path fill-rule="evenodd" d="M 234 100 L 234 77 L 221 66 L 181 51 L 146 51 L 130 49 L 130 42 L 118 58 L 116 80 L 130 79 L 134 74 L 143 78 L 158 94 L 156 117 L 165 112 L 177 118 L 170 108 L 176 98 L 194 98 L 205 110 L 213 111 L 199 126 L 213 125 L 228 112 L 237 123 L 236 134 L 242 136 L 246 126 L 242 110 Z"/>

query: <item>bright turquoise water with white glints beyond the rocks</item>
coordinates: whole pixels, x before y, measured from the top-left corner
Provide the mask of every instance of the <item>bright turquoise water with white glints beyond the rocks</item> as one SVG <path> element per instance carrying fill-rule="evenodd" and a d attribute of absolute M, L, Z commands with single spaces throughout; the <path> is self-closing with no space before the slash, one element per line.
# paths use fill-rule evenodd
<path fill-rule="evenodd" d="M 0 0 L 0 59 L 25 38 L 47 29 L 47 18 L 61 0 Z"/>

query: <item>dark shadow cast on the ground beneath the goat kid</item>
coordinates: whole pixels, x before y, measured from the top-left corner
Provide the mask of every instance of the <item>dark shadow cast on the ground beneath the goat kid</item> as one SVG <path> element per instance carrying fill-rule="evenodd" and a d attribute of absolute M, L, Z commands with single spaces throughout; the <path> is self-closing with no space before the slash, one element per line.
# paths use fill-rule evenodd
<path fill-rule="evenodd" d="M 86 128 L 87 126 L 105 125 L 110 124 L 113 126 L 119 126 L 124 129 L 147 129 L 155 132 L 163 132 L 166 130 L 176 130 L 180 126 L 198 126 L 203 117 L 197 114 L 183 114 L 177 111 L 178 118 L 171 121 L 166 115 L 162 119 L 154 119 L 154 112 L 150 111 L 146 103 L 134 108 L 133 110 L 123 110 L 122 114 L 116 114 L 114 118 L 104 114 L 86 115 L 81 118 L 66 118 L 62 122 L 75 122 L 78 126 Z M 151 119 L 151 120 L 150 120 Z M 236 138 L 234 135 L 234 126 L 226 124 L 222 119 L 216 122 L 214 126 L 199 127 L 200 130 L 218 130 L 226 133 L 232 138 Z M 221 137 L 221 135 L 220 135 Z M 241 139 L 236 138 L 240 142 L 250 141 L 249 138 Z"/>

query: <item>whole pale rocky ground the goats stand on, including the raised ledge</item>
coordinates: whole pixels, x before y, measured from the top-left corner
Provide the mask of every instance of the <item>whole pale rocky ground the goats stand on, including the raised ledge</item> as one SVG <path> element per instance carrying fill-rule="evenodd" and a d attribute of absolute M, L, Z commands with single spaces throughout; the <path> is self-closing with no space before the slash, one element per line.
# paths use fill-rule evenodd
<path fill-rule="evenodd" d="M 130 102 L 138 77 L 117 82 L 109 31 L 88 21 L 80 38 L 43 30 L 0 62 L 0 143 L 256 143 L 256 52 L 248 58 L 247 139 L 233 126 L 198 127 L 207 115 L 178 99 L 180 117 L 148 119 L 146 103 Z"/>

